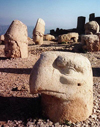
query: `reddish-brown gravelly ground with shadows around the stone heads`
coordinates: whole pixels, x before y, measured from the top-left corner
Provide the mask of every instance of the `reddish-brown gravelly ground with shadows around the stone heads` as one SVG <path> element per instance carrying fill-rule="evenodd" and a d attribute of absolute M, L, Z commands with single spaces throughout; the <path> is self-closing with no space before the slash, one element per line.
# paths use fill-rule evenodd
<path fill-rule="evenodd" d="M 29 57 L 7 59 L 0 45 L 0 127 L 100 127 L 100 52 L 82 53 L 81 46 L 45 42 L 29 43 Z M 29 76 L 33 65 L 44 51 L 73 51 L 89 58 L 93 69 L 94 107 L 85 121 L 53 123 L 41 113 L 40 95 L 29 92 Z"/>

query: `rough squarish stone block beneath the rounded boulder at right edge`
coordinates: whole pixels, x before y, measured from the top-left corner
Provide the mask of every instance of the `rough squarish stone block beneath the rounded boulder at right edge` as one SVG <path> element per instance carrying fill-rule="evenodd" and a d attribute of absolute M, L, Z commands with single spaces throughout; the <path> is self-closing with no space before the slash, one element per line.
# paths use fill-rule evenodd
<path fill-rule="evenodd" d="M 81 43 L 83 45 L 83 49 L 94 52 L 100 50 L 100 40 L 97 35 L 82 35 Z"/>

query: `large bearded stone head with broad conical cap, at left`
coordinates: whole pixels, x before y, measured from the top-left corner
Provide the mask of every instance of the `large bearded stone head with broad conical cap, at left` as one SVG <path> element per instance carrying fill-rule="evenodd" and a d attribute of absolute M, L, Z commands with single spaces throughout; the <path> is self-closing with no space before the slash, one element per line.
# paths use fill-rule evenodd
<path fill-rule="evenodd" d="M 8 58 L 28 57 L 27 26 L 14 20 L 5 34 L 5 56 Z"/>

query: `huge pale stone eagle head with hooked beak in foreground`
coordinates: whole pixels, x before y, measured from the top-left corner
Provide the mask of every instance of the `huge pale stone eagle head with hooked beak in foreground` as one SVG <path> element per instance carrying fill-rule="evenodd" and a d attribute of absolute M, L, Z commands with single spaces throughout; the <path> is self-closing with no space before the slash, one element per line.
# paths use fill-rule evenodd
<path fill-rule="evenodd" d="M 29 85 L 32 94 L 41 93 L 43 113 L 53 122 L 79 122 L 92 113 L 92 69 L 89 60 L 80 54 L 42 53 Z"/>

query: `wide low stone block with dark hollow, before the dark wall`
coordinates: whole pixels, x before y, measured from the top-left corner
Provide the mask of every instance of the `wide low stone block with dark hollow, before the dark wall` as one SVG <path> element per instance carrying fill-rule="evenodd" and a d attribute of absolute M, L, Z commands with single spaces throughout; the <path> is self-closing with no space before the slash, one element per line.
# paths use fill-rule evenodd
<path fill-rule="evenodd" d="M 78 33 L 68 33 L 68 34 L 63 34 L 58 36 L 58 43 L 61 42 L 77 42 L 78 41 Z"/>

